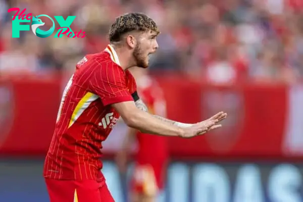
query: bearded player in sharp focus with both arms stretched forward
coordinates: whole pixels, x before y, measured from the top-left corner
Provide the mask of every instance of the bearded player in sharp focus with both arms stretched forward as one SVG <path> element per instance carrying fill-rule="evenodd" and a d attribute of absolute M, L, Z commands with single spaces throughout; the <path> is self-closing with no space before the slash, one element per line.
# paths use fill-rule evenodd
<path fill-rule="evenodd" d="M 120 116 L 129 127 L 165 136 L 189 138 L 221 127 L 223 112 L 195 124 L 146 112 L 128 69 L 148 67 L 148 55 L 158 48 L 158 34 L 156 23 L 146 15 L 122 15 L 110 28 L 111 44 L 77 63 L 63 92 L 44 162 L 51 202 L 114 201 L 100 172 L 100 149 Z"/>

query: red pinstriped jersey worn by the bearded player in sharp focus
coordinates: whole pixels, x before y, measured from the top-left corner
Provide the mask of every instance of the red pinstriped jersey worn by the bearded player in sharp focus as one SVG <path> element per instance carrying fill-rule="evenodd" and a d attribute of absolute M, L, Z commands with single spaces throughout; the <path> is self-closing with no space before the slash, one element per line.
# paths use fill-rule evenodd
<path fill-rule="evenodd" d="M 136 91 L 133 76 L 119 65 L 111 45 L 76 65 L 63 92 L 44 177 L 99 178 L 102 142 L 120 117 L 111 104 L 133 100 L 131 94 Z"/>

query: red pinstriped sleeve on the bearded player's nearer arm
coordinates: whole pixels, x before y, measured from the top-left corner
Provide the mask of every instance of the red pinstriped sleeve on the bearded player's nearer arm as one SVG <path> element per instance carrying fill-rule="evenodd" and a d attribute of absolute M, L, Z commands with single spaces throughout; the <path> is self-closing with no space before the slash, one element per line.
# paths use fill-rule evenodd
<path fill-rule="evenodd" d="M 92 74 L 90 88 L 100 97 L 104 106 L 133 101 L 126 85 L 124 71 L 114 63 L 98 65 Z"/>

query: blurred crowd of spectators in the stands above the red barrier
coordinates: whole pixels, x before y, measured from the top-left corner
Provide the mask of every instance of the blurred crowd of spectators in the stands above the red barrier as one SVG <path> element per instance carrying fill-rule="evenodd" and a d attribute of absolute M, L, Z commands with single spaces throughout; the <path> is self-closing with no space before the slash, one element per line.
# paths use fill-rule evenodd
<path fill-rule="evenodd" d="M 12 38 L 15 13 L 8 9 L 15 7 L 35 16 L 76 16 L 71 28 L 86 36 L 39 38 L 21 31 L 20 38 Z M 72 71 L 83 55 L 105 48 L 116 16 L 137 11 L 161 30 L 159 51 L 150 58 L 152 71 L 178 71 L 216 83 L 298 82 L 302 10 L 302 0 L 0 0 L 0 73 Z M 49 29 L 51 21 L 41 19 L 41 29 Z"/>

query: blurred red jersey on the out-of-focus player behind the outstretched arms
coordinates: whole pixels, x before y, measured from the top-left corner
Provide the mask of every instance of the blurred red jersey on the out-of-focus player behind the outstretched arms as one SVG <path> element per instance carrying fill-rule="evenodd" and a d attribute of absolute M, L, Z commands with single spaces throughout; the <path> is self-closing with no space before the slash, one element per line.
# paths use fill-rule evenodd
<path fill-rule="evenodd" d="M 166 116 L 166 102 L 161 88 L 151 78 L 144 76 L 137 80 L 137 90 L 151 114 Z M 168 159 L 167 138 L 164 136 L 137 132 L 138 151 L 135 157 L 139 165 L 153 167 L 156 177 L 161 176 Z"/>

